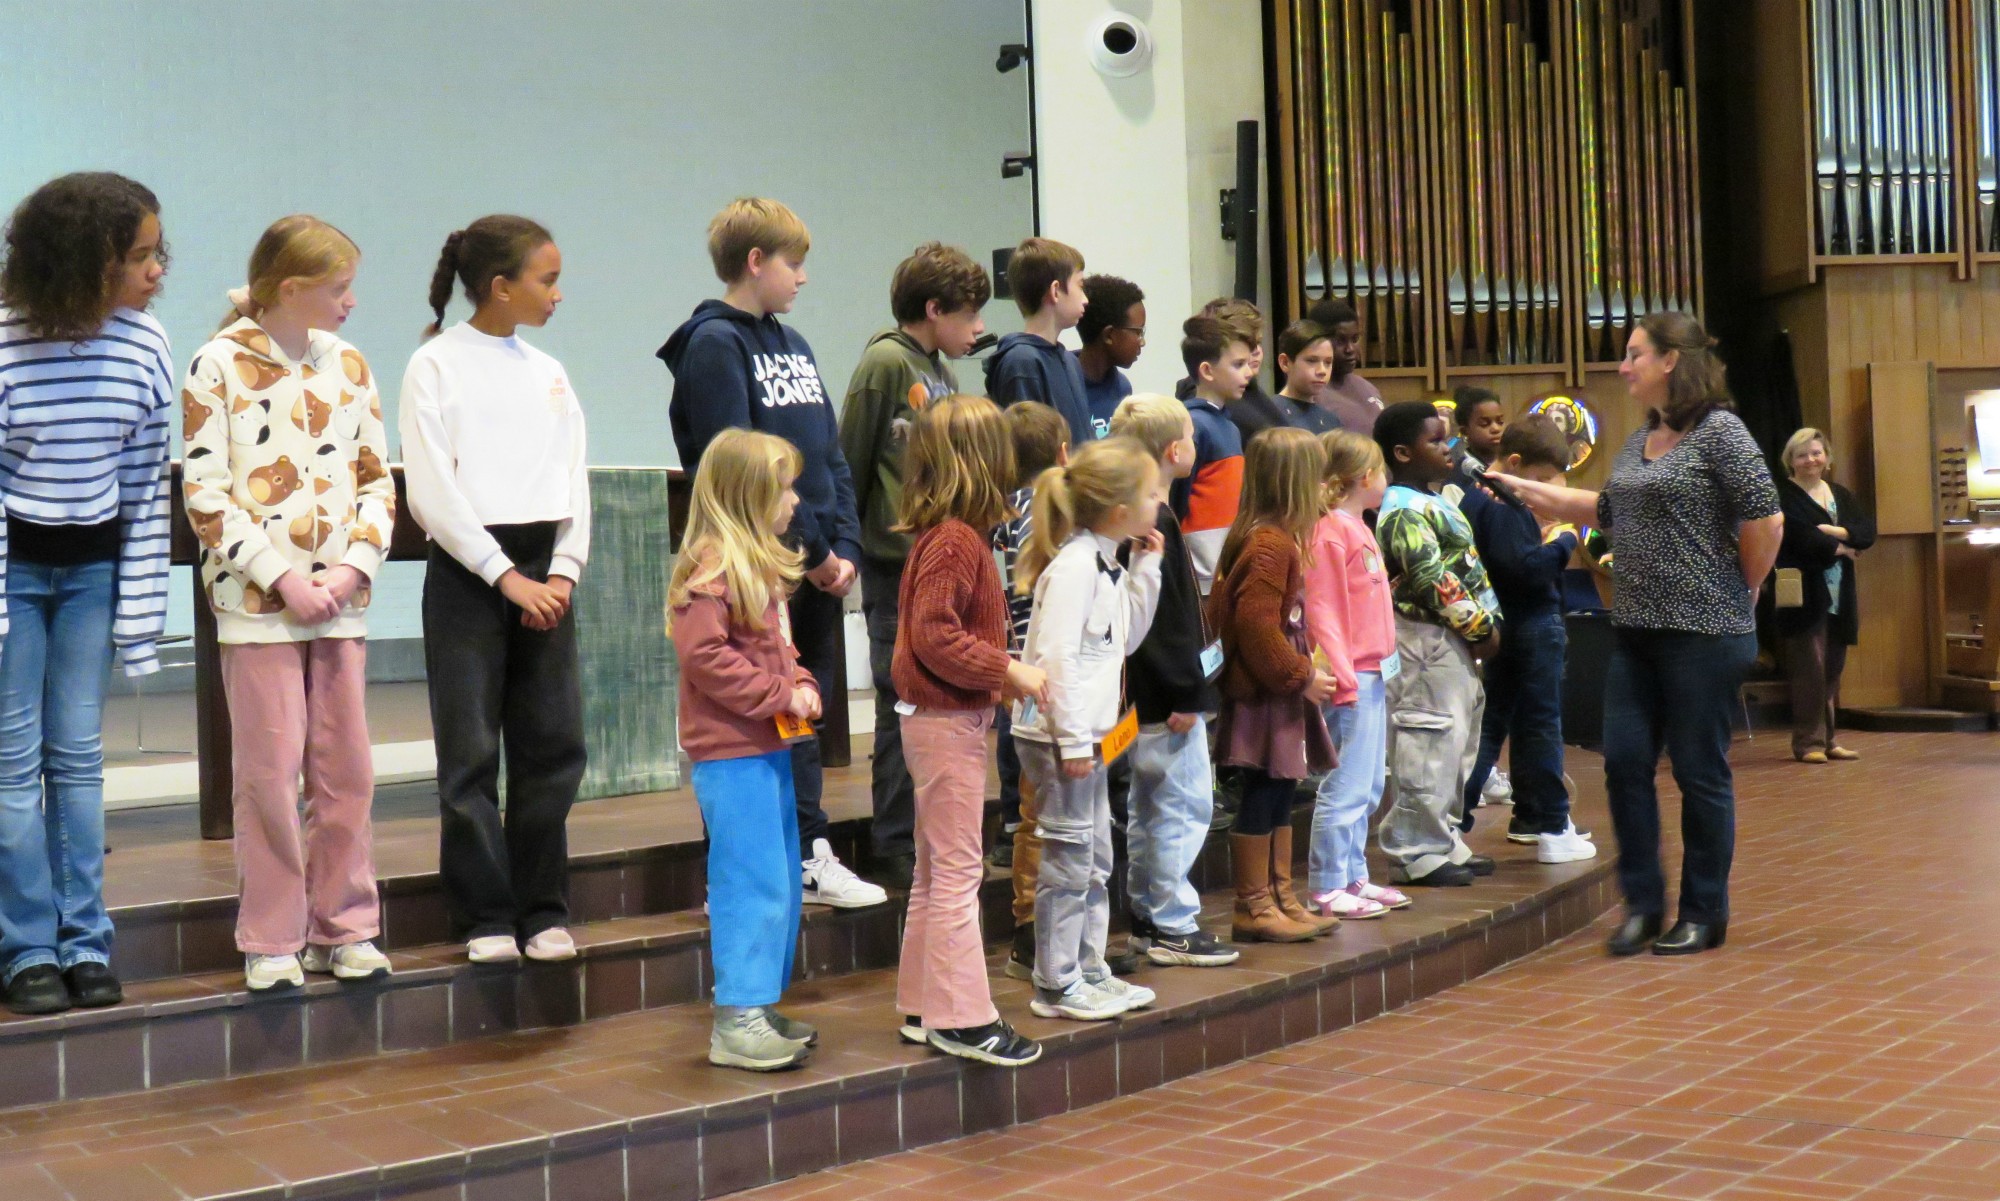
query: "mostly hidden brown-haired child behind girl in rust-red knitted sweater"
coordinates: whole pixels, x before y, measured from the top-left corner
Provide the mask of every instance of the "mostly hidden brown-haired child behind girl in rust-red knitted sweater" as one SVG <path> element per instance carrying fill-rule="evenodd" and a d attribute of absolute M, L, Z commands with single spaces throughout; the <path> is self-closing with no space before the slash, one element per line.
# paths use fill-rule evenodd
<path fill-rule="evenodd" d="M 1000 584 L 1008 596 L 1008 655 L 1020 659 L 1028 647 L 1028 619 L 1034 611 L 1034 596 L 1016 586 L 1020 552 L 1034 530 L 1034 480 L 1052 466 L 1070 462 L 1070 422 L 1062 414 L 1036 400 L 1022 400 L 1006 408 L 1008 434 L 1014 442 L 1014 480 L 1020 484 L 1008 496 L 1012 518 L 994 526 L 994 550 L 1000 556 Z M 996 767 L 1000 769 L 1000 845 L 1006 867 L 1014 877 L 1014 953 L 1008 955 L 1006 973 L 1016 981 L 1034 979 L 1034 887 L 1042 875 L 1042 835 L 1034 823 L 1034 785 L 1020 771 L 1020 753 L 1014 749 L 1012 707 L 1002 705 L 994 719 L 998 733 Z"/>

